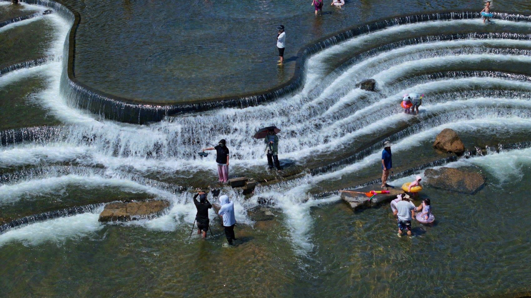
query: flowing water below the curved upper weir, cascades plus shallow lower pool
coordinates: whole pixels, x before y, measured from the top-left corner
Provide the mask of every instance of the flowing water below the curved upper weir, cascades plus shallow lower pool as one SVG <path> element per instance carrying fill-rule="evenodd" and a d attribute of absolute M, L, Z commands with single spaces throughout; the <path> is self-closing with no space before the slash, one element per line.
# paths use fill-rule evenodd
<path fill-rule="evenodd" d="M 0 2 L 1 11 L 6 5 Z M 386 29 L 311 56 L 297 92 L 149 125 L 102 120 L 68 103 L 60 82 L 70 23 L 60 14 L 4 25 L 0 38 L 22 48 L 0 45 L 8 53 L 0 63 L 7 64 L 0 73 L 0 218 L 10 222 L 0 226 L 0 294 L 531 291 L 530 20 L 500 14 L 490 24 L 435 18 L 399 25 L 389 19 Z M 23 38 L 28 32 L 36 36 L 31 44 Z M 356 86 L 364 78 L 376 80 L 376 92 Z M 418 116 L 399 107 L 408 92 L 426 94 Z M 267 169 L 262 140 L 251 138 L 270 125 L 282 129 L 281 173 Z M 431 145 L 444 128 L 486 153 L 457 159 L 435 152 Z M 196 154 L 221 138 L 231 151 L 230 177 L 261 182 L 252 196 L 216 181 L 215 154 Z M 379 178 L 384 139 L 395 144 L 393 185 L 442 165 L 481 172 L 487 183 L 470 196 L 425 188 L 421 198 L 432 199 L 436 223 L 414 222 L 415 236 L 399 239 L 387 204 L 353 212 L 337 195 Z M 213 211 L 213 236 L 189 237 L 196 187 L 221 188 L 235 202 L 236 247 L 222 247 Z M 102 203 L 131 198 L 166 199 L 171 206 L 153 219 L 98 222 Z"/>

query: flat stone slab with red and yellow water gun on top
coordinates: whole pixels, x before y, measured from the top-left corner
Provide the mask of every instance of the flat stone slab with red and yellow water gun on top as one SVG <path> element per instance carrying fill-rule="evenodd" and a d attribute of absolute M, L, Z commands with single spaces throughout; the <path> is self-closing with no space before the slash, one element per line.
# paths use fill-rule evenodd
<path fill-rule="evenodd" d="M 369 192 L 371 190 L 383 190 L 379 186 L 376 185 L 370 185 L 363 188 L 358 189 L 352 189 L 352 191 L 357 192 Z M 342 200 L 347 203 L 350 208 L 357 210 L 361 208 L 369 208 L 374 205 L 378 205 L 383 203 L 384 201 L 390 201 L 392 199 L 395 199 L 397 195 L 404 194 L 404 190 L 402 190 L 400 187 L 389 187 L 387 190 L 389 190 L 389 194 L 378 194 L 374 196 L 370 201 L 369 198 L 364 194 L 357 194 L 355 192 L 348 192 L 347 191 L 341 191 L 340 197 Z"/>

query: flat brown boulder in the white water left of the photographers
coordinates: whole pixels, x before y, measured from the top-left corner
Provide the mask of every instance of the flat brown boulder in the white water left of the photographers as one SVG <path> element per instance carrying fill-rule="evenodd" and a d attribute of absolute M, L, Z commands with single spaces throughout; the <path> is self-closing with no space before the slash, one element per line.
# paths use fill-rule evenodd
<path fill-rule="evenodd" d="M 125 222 L 152 218 L 161 215 L 162 212 L 164 212 L 164 210 L 168 207 L 169 202 L 165 200 L 109 203 L 105 205 L 104 210 L 100 213 L 98 221 Z"/>

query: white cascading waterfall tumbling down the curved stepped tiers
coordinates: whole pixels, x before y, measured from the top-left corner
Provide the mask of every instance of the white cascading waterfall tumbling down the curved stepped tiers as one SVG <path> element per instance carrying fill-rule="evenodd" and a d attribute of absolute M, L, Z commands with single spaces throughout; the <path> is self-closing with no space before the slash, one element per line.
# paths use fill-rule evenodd
<path fill-rule="evenodd" d="M 378 182 L 356 184 L 372 179 L 365 173 L 378 167 L 384 139 L 396 143 L 393 150 L 397 154 L 407 154 L 447 127 L 458 131 L 462 127 L 494 127 L 487 137 L 494 136 L 496 129 L 519 132 L 531 127 L 531 73 L 525 71 L 531 64 L 527 15 L 496 14 L 498 25 L 512 31 L 503 33 L 485 32 L 477 14 L 467 12 L 382 21 L 304 49 L 294 79 L 270 93 L 162 106 L 128 102 L 77 82 L 69 56 L 74 15 L 52 1 L 31 3 L 53 10 L 46 17 L 57 23 L 57 40 L 47 58 L 0 70 L 0 86 L 44 75 L 47 89 L 33 96 L 63 124 L 0 132 L 0 189 L 4 190 L 0 205 L 17 204 L 37 188 L 53 195 L 65 185 L 87 189 L 111 185 L 170 200 L 172 206 L 165 215 L 130 225 L 174 231 L 194 221 L 191 193 L 186 190 L 199 186 L 181 181 L 201 178 L 212 181 L 212 186 L 215 183 L 211 171 L 216 164 L 214 154 L 200 158 L 196 153 L 225 138 L 232 152 L 232 173 L 263 176 L 264 145 L 251 136 L 262 127 L 276 125 L 282 129 L 280 158 L 287 165 L 295 164 L 285 171 L 298 178 L 260 186 L 251 197 L 228 187 L 222 191 L 234 199 L 241 223 L 254 224 L 247 212 L 260 205 L 284 213 L 286 227 L 295 231 L 287 236 L 294 249 L 307 256 L 314 249 L 311 207 L 338 199 L 339 187 L 323 188 L 323 183 L 352 181 L 349 187 L 359 187 Z M 334 55 L 346 57 L 345 62 L 323 73 L 324 61 Z M 376 80 L 375 92 L 357 87 L 364 78 Z M 405 115 L 398 106 L 402 94 L 408 92 L 426 94 L 417 117 Z M 205 110 L 209 111 L 200 112 Z M 173 113 L 181 114 L 165 117 Z M 139 126 L 109 119 L 159 122 Z M 528 140 L 519 141 L 523 142 L 487 148 L 486 155 L 470 161 L 444 157 L 415 164 L 393 179 L 410 179 L 414 173 L 447 163 L 483 164 L 474 161 L 503 155 L 504 150 L 527 150 L 524 141 Z M 278 178 L 265 175 L 264 180 Z M 10 241 L 41 243 L 44 236 L 32 236 L 49 232 L 40 221 L 56 227 L 72 223 L 70 229 L 51 232 L 58 239 L 101 229 L 97 222 L 100 205 L 79 204 L 0 226 L 4 232 L 0 245 Z M 82 225 L 82 221 L 89 224 Z"/>

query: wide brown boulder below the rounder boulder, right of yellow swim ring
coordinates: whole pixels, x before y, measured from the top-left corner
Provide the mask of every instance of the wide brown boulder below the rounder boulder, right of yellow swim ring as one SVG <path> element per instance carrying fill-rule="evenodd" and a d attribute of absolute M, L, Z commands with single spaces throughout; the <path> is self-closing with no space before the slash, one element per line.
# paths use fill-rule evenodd
<path fill-rule="evenodd" d="M 454 168 L 427 169 L 424 176 L 425 185 L 470 195 L 475 194 L 485 184 L 485 178 L 481 174 Z"/>

